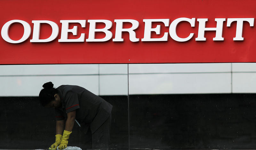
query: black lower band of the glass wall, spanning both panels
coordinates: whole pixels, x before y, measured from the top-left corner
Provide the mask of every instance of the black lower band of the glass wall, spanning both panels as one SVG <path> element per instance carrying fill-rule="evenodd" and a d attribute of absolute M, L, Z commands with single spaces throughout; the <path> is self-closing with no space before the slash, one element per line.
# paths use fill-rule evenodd
<path fill-rule="evenodd" d="M 256 147 L 256 94 L 130 95 L 130 122 L 127 96 L 101 97 L 113 105 L 110 149 Z M 36 97 L 0 97 L 0 103 L 0 149 L 47 149 L 54 143 L 52 108 Z M 79 128 L 75 123 L 68 146 L 91 149 L 91 135 Z"/>

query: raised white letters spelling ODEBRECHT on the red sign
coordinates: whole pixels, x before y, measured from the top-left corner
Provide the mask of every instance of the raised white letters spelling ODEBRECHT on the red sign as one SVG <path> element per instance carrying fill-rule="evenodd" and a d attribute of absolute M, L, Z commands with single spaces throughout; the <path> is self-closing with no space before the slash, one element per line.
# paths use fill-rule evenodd
<path fill-rule="evenodd" d="M 198 21 L 198 36 L 195 38 L 196 41 L 206 41 L 206 38 L 204 37 L 205 31 L 216 31 L 216 36 L 212 39 L 213 41 L 223 41 L 224 38 L 222 37 L 222 31 L 223 31 L 223 23 L 224 21 L 227 21 L 227 27 L 231 26 L 232 22 L 236 22 L 236 36 L 233 38 L 234 41 L 243 41 L 244 38 L 242 37 L 243 33 L 243 23 L 249 22 L 250 27 L 254 26 L 254 18 L 215 18 L 216 21 L 216 27 L 215 28 L 207 28 L 205 27 L 206 22 L 208 21 L 207 18 L 178 18 L 172 21 L 170 24 L 170 19 L 143 19 L 143 22 L 145 23 L 144 26 L 144 37 L 139 39 L 136 37 L 136 32 L 134 31 L 137 29 L 140 24 L 138 20 L 132 20 L 132 19 L 116 19 L 114 22 L 116 23 L 116 31 L 115 31 L 115 38 L 112 39 L 113 33 L 109 30 L 112 28 L 113 22 L 110 20 L 87 20 L 88 23 L 90 23 L 89 26 L 89 33 L 88 38 L 85 39 L 85 33 L 81 33 L 81 36 L 76 39 L 68 39 L 68 33 L 72 33 L 73 35 L 77 35 L 77 28 L 85 28 L 86 20 L 60 20 L 61 25 L 61 33 L 60 33 L 60 39 L 58 39 L 58 42 L 105 42 L 108 40 L 111 40 L 113 42 L 123 42 L 124 39 L 122 38 L 123 32 L 129 32 L 129 40 L 132 42 L 138 42 L 138 41 L 168 41 L 168 37 L 170 36 L 173 40 L 178 42 L 185 42 L 190 40 L 194 33 L 188 33 L 189 36 L 187 37 L 179 37 L 176 33 L 176 28 L 178 24 L 182 21 L 187 21 L 191 27 L 195 27 L 196 21 Z M 131 28 L 123 28 L 123 24 L 125 22 L 130 22 L 132 24 Z M 165 27 L 169 27 L 169 32 L 165 32 L 162 37 L 159 38 L 152 38 L 151 33 L 155 32 L 157 35 L 160 34 L 160 25 L 157 25 L 156 28 L 152 28 L 153 22 L 162 22 L 164 23 Z M 9 37 L 9 27 L 13 23 L 21 23 L 24 28 L 24 34 L 19 40 L 12 40 Z M 59 26 L 49 20 L 32 20 L 33 26 L 33 35 L 32 39 L 30 39 L 30 42 L 50 42 L 57 38 L 59 35 Z M 50 37 L 46 39 L 40 39 L 40 25 L 42 23 L 47 23 L 52 28 L 52 33 Z M 69 23 L 79 23 L 81 27 L 74 26 L 74 28 L 69 29 Z M 105 28 L 96 28 L 97 23 L 104 23 Z M 169 25 L 170 24 L 170 25 Z M 105 37 L 103 38 L 95 38 L 96 32 L 104 32 Z M 26 40 L 31 35 L 31 26 L 28 24 L 28 22 L 23 20 L 10 20 L 6 22 L 2 29 L 1 29 L 1 36 L 2 38 L 9 43 L 21 43 Z"/>

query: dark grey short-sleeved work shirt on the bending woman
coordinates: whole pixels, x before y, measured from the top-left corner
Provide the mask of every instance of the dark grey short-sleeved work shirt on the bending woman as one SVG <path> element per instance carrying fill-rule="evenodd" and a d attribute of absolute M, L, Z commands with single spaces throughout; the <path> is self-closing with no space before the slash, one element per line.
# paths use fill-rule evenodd
<path fill-rule="evenodd" d="M 55 108 L 56 120 L 64 120 L 67 113 L 76 110 L 76 120 L 81 130 L 92 133 L 102 125 L 111 114 L 112 105 L 92 92 L 76 85 L 61 85 L 57 88 L 62 107 Z"/>

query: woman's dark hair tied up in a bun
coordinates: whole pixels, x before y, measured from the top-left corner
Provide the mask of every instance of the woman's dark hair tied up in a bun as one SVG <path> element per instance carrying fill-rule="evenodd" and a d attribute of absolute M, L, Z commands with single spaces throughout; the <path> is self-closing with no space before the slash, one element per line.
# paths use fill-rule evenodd
<path fill-rule="evenodd" d="M 51 101 L 55 100 L 54 95 L 58 93 L 58 90 L 53 88 L 52 82 L 44 83 L 43 88 L 39 93 L 39 100 L 44 107 Z"/>

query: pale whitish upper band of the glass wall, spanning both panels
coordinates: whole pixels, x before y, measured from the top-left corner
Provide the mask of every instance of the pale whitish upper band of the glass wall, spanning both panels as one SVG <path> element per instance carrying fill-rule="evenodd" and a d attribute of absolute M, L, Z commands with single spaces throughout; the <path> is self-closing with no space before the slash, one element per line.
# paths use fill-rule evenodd
<path fill-rule="evenodd" d="M 55 87 L 80 85 L 96 95 L 255 93 L 255 68 L 256 63 L 1 65 L 0 96 L 38 96 L 48 81 Z"/>

